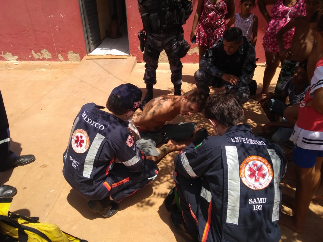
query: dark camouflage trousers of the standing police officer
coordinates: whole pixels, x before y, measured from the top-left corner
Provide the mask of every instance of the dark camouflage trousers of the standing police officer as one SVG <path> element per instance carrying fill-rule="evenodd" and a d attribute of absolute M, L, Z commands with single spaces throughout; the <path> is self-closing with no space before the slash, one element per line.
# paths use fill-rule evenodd
<path fill-rule="evenodd" d="M 171 69 L 171 81 L 174 86 L 182 84 L 182 62 L 177 53 L 177 42 L 182 40 L 183 36 L 179 32 L 172 33 L 147 33 L 145 52 L 143 60 L 146 62 L 145 75 L 143 77 L 145 84 L 156 84 L 156 69 L 158 67 L 158 58 L 162 50 L 165 50 L 169 67 Z"/>

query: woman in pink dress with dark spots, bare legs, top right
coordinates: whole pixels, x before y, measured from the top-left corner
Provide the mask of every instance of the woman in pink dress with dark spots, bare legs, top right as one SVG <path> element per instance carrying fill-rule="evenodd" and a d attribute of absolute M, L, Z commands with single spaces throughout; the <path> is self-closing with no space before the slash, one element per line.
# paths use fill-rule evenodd
<path fill-rule="evenodd" d="M 269 15 L 266 5 L 274 5 Z M 259 11 L 265 17 L 268 26 L 263 37 L 263 47 L 265 49 L 266 69 L 264 72 L 263 89 L 258 98 L 268 92 L 271 79 L 274 77 L 276 69 L 284 62 L 282 55 L 279 53 L 276 34 L 292 18 L 297 16 L 306 16 L 305 0 L 259 0 Z M 284 36 L 285 49 L 290 47 L 294 29 L 288 30 Z"/>

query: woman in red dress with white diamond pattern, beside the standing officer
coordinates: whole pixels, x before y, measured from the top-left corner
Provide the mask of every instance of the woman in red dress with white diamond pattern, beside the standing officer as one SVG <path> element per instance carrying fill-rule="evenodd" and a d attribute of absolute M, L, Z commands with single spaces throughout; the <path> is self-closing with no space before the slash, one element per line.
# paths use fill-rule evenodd
<path fill-rule="evenodd" d="M 225 14 L 225 9 L 228 13 Z M 225 20 L 234 15 L 234 0 L 198 0 L 194 15 L 191 41 L 199 45 L 199 63 L 205 51 L 223 37 Z M 198 30 L 195 29 L 198 25 Z"/>

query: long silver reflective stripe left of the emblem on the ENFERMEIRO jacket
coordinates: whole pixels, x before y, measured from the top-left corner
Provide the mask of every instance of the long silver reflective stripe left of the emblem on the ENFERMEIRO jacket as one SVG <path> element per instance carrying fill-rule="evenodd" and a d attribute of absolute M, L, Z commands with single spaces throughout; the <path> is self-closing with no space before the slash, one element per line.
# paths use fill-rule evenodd
<path fill-rule="evenodd" d="M 236 146 L 225 146 L 228 169 L 228 206 L 226 222 L 238 224 L 240 210 L 239 160 Z"/>

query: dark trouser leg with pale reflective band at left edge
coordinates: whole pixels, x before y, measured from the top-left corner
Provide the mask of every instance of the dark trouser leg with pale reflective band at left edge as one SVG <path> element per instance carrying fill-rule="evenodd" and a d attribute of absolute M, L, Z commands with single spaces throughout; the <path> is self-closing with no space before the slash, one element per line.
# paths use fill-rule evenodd
<path fill-rule="evenodd" d="M 3 102 L 1 90 L 0 90 L 0 167 L 1 164 L 7 160 L 18 158 L 19 156 L 9 150 L 10 136 L 9 136 L 9 124 L 7 114 L 5 112 L 5 104 Z"/>

